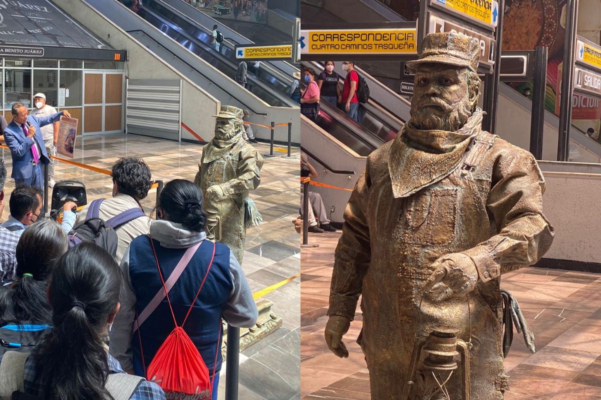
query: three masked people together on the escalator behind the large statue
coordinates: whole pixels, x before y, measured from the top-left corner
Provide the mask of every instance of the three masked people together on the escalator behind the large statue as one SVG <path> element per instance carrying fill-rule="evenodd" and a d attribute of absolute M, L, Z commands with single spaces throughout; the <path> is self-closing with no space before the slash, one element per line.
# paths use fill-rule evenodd
<path fill-rule="evenodd" d="M 344 78 L 334 71 L 334 66 L 334 61 L 326 61 L 325 68 L 319 74 L 311 67 L 304 69 L 305 88 L 300 89 L 299 100 L 301 113 L 307 118 L 316 119 L 319 115 L 320 101 L 325 100 L 332 106 L 343 110 L 350 119 L 359 123 L 361 115 L 357 97 L 359 74 L 355 71 L 355 62 L 343 61 L 342 68 L 347 73 Z M 342 85 L 340 84 L 341 80 L 343 80 Z"/>

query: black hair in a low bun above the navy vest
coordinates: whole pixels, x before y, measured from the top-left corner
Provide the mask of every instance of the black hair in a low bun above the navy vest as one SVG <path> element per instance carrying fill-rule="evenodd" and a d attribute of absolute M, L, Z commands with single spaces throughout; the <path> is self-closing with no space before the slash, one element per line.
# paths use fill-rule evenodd
<path fill-rule="evenodd" d="M 203 212 L 203 192 L 185 179 L 174 179 L 163 188 L 157 207 L 166 213 L 166 219 L 182 224 L 186 229 L 204 231 L 206 215 Z"/>

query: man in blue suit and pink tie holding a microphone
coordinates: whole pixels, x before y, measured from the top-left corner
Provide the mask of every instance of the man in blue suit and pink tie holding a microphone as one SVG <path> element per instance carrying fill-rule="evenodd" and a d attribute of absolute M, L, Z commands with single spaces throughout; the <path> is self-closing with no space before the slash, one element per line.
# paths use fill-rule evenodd
<path fill-rule="evenodd" d="M 28 116 L 27 107 L 20 102 L 13 104 L 11 113 L 13 121 L 4 130 L 4 140 L 13 157 L 11 177 L 16 185 L 42 188 L 44 178 L 41 164 L 47 165 L 50 157 L 46 152 L 40 127 L 58 122 L 63 115 L 67 118 L 71 115 L 63 110 L 47 117 Z"/>

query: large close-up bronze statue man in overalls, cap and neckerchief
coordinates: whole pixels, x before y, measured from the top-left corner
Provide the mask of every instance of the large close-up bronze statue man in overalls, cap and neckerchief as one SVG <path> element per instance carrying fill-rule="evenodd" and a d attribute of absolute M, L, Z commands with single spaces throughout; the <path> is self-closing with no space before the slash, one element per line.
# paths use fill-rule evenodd
<path fill-rule="evenodd" d="M 416 68 L 410 121 L 367 158 L 344 213 L 325 336 L 348 356 L 341 338 L 362 295 L 358 342 L 372 399 L 465 399 L 460 371 L 437 383 L 423 357 L 418 373 L 409 371 L 434 326 L 468 343 L 472 400 L 502 399 L 508 387 L 501 274 L 538 261 L 554 231 L 534 157 L 481 129 L 479 54 L 463 34 L 424 38 L 408 63 Z"/>

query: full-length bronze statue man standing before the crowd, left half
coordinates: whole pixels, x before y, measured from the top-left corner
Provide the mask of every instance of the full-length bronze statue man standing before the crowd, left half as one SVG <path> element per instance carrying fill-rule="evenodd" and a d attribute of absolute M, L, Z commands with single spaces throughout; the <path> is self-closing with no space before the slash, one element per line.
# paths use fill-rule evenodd
<path fill-rule="evenodd" d="M 246 227 L 261 216 L 248 191 L 261 183 L 263 157 L 242 137 L 243 110 L 221 106 L 215 137 L 203 147 L 195 184 L 203 190 L 207 237 L 228 245 L 242 263 Z"/>

